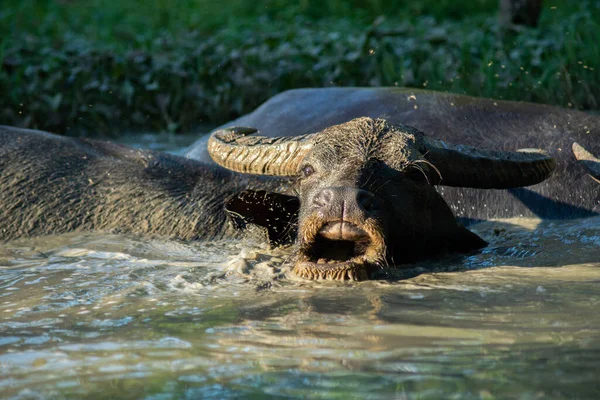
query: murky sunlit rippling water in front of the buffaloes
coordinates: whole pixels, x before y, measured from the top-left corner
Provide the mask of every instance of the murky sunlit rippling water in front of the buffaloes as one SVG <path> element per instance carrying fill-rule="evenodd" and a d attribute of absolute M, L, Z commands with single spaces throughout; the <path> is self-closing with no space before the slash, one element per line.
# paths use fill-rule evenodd
<path fill-rule="evenodd" d="M 362 283 L 289 249 L 69 234 L 0 245 L 0 397 L 600 398 L 600 217 Z"/>

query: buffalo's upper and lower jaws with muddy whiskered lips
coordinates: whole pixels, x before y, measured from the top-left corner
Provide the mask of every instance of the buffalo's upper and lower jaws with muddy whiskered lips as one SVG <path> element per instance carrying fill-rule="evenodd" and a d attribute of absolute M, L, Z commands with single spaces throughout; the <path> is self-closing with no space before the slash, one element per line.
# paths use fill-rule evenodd
<path fill-rule="evenodd" d="M 364 222 L 309 217 L 299 229 L 293 271 L 312 280 L 361 281 L 386 260 L 385 233 L 373 219 Z"/>

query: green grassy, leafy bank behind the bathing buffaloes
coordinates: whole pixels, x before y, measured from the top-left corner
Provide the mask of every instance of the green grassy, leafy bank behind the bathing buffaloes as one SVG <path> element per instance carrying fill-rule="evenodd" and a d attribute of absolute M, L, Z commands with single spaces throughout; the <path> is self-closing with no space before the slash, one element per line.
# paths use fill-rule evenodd
<path fill-rule="evenodd" d="M 331 85 L 600 108 L 595 1 L 547 0 L 537 29 L 506 35 L 490 0 L 6 1 L 0 124 L 189 131 L 286 89 Z"/>

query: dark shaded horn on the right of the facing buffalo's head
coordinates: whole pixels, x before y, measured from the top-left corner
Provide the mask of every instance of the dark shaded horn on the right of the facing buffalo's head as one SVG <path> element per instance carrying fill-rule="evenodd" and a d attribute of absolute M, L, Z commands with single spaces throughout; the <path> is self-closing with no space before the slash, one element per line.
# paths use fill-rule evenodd
<path fill-rule="evenodd" d="M 554 158 L 540 149 L 482 150 L 423 139 L 423 155 L 439 170 L 439 176 L 432 181 L 434 184 L 508 189 L 542 182 L 556 167 Z"/>

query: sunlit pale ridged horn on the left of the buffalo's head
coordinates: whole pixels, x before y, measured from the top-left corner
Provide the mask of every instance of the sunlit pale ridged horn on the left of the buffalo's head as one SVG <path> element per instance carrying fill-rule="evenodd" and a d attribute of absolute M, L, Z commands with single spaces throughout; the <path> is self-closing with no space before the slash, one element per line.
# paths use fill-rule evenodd
<path fill-rule="evenodd" d="M 254 128 L 219 129 L 208 140 L 208 153 L 222 167 L 258 175 L 294 176 L 313 146 L 314 134 L 292 137 L 247 136 Z"/>

